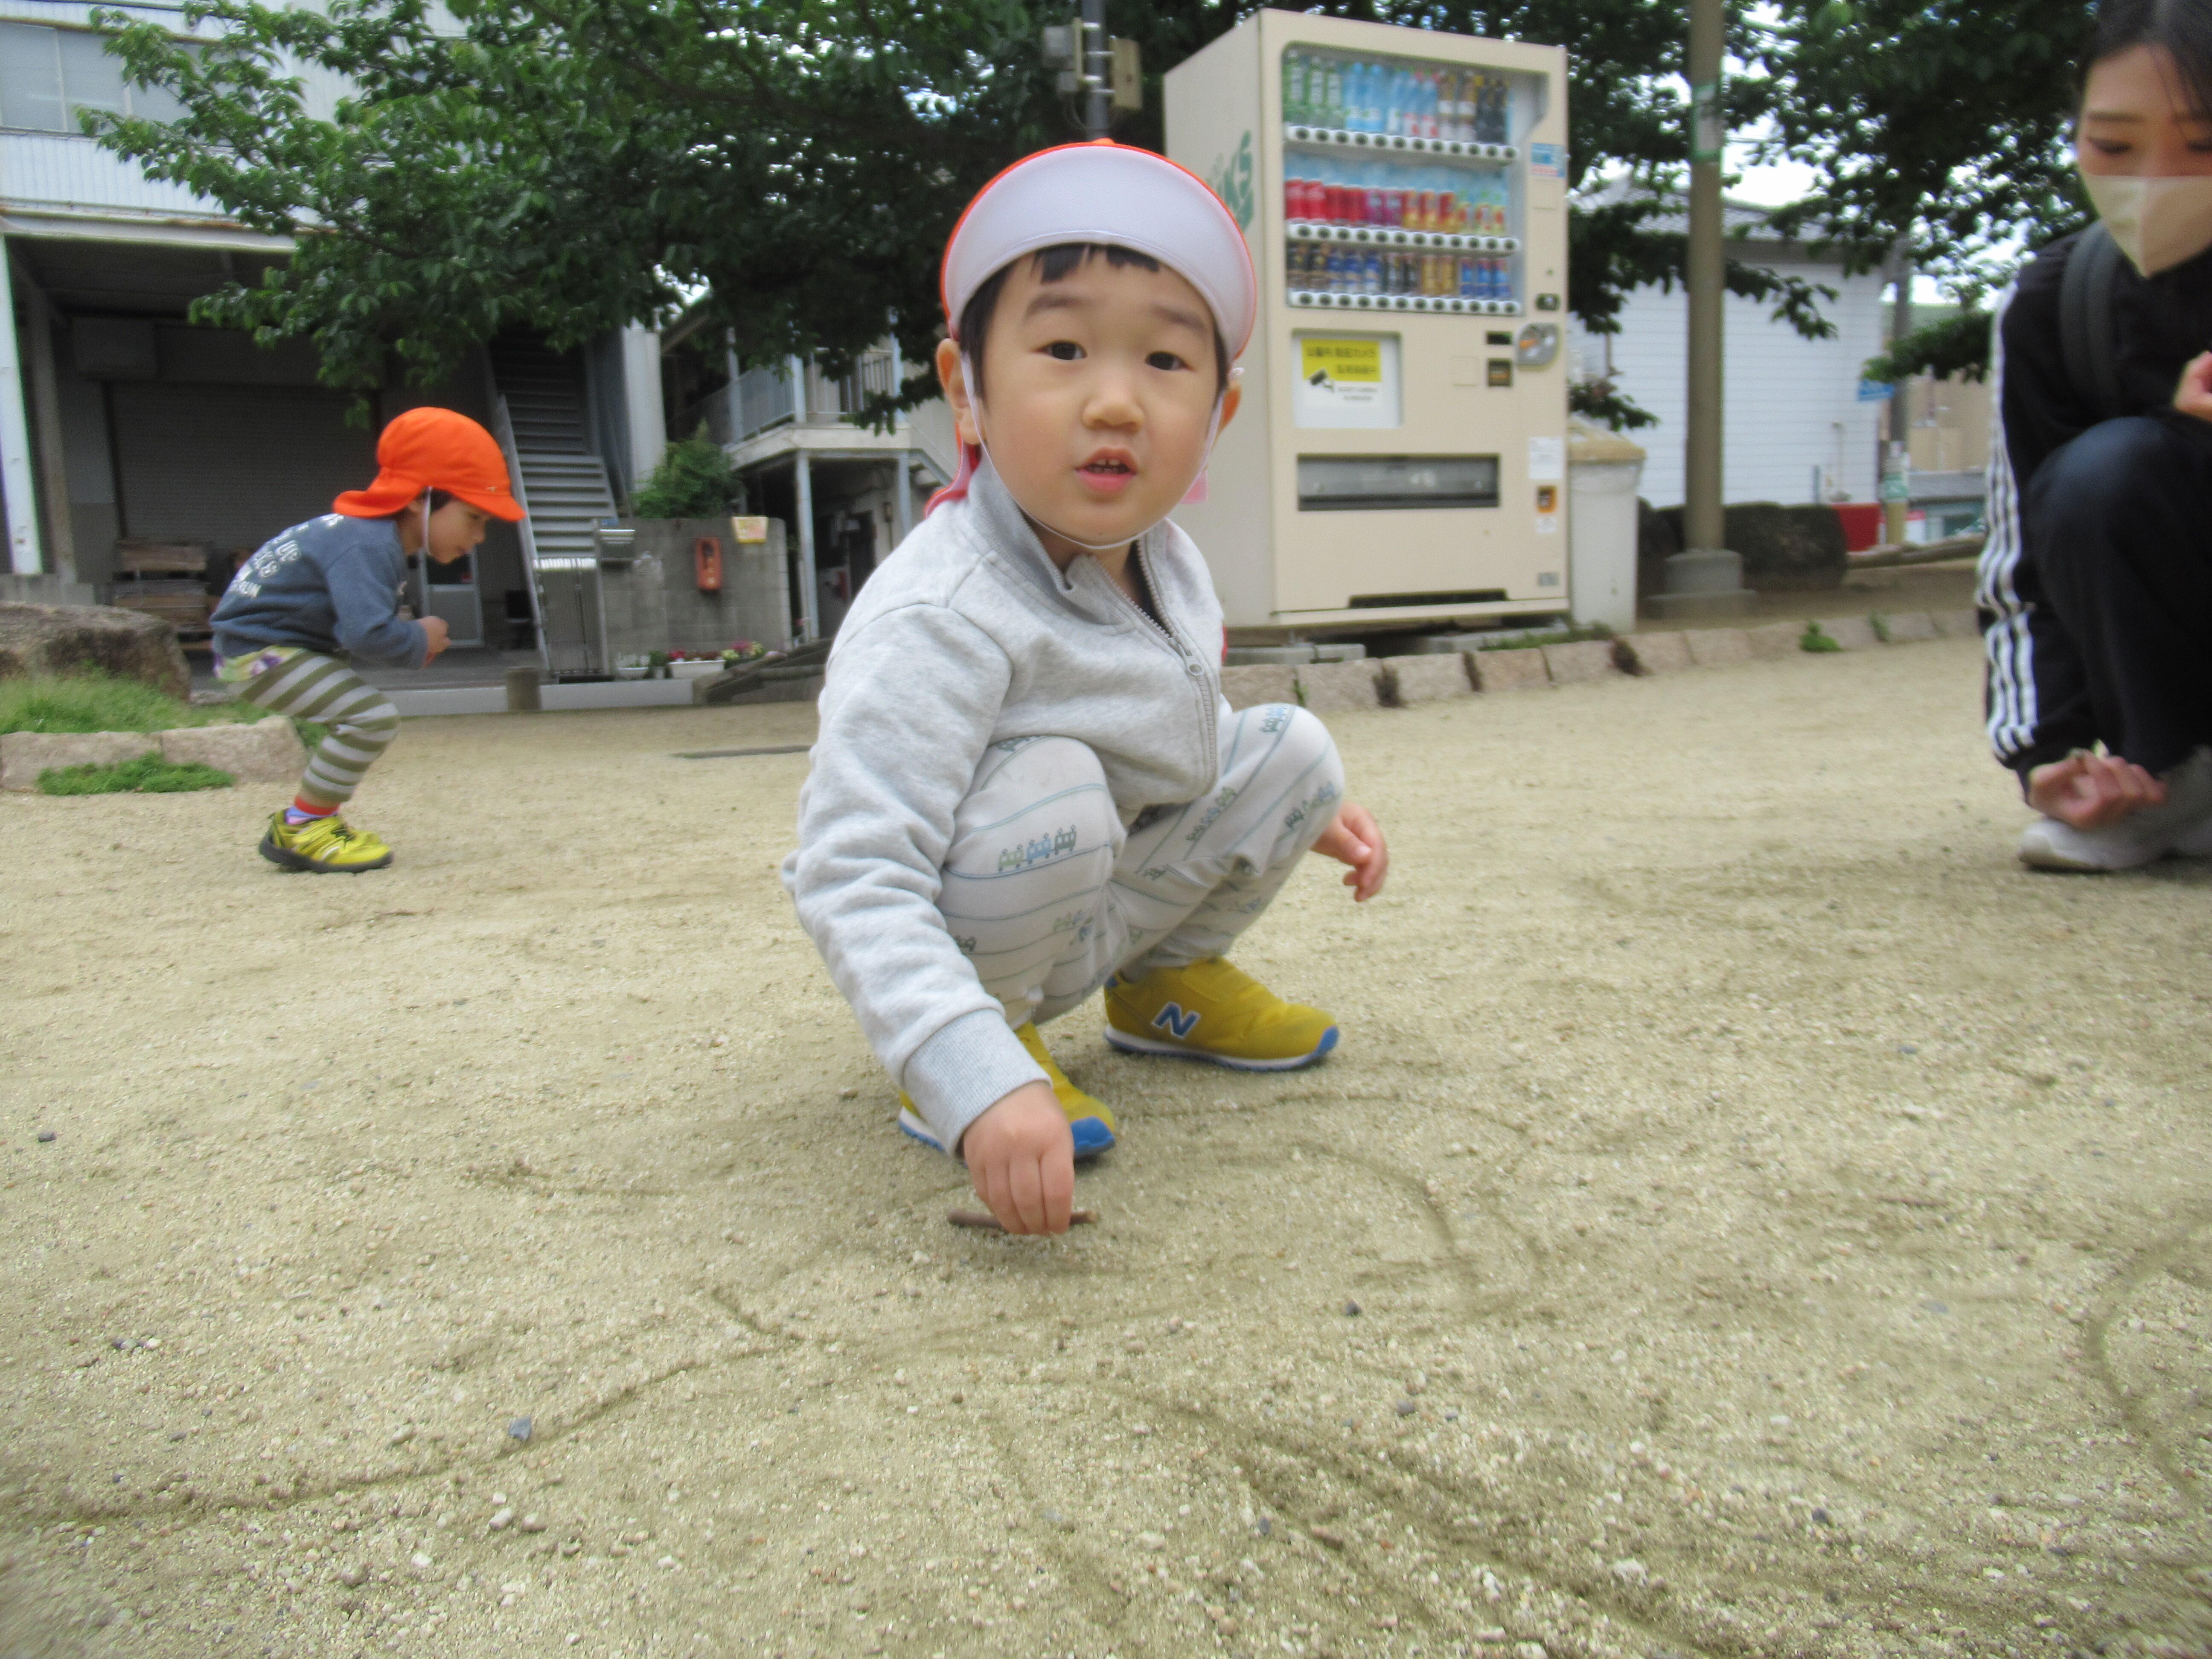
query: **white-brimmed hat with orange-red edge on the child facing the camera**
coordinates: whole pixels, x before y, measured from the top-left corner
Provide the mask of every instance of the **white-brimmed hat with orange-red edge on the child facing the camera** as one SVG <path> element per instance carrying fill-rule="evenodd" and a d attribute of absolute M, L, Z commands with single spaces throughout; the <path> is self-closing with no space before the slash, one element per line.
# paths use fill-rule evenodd
<path fill-rule="evenodd" d="M 975 192 L 945 243 L 940 294 L 953 343 L 962 345 L 960 312 L 995 272 L 1071 241 L 1157 259 L 1199 290 L 1230 361 L 1243 356 L 1259 316 L 1259 276 L 1234 215 L 1190 168 L 1113 139 L 1024 155 Z M 962 445 L 960 476 L 929 507 L 967 495 L 978 465 L 975 445 Z"/>

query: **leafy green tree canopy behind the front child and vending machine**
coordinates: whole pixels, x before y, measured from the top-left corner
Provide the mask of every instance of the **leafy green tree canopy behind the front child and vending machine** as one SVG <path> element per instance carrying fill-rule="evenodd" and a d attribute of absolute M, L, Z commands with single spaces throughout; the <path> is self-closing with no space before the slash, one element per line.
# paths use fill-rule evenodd
<path fill-rule="evenodd" d="M 509 327 L 571 347 L 706 294 L 743 361 L 814 352 L 830 374 L 894 316 L 918 369 L 911 400 L 931 389 L 936 263 L 960 208 L 1011 159 L 1077 135 L 1037 53 L 1037 29 L 1066 11 L 1064 0 L 453 0 L 449 13 L 429 0 L 321 11 L 188 0 L 192 42 L 102 18 L 131 73 L 175 91 L 186 117 L 95 124 L 148 175 L 296 239 L 259 288 L 217 292 L 195 316 L 263 341 L 312 338 L 334 385 L 378 385 L 394 356 L 436 380 Z M 1110 27 L 1141 42 L 1148 69 L 1146 108 L 1119 135 L 1159 146 L 1159 71 L 1250 11 L 1115 0 Z M 1670 80 L 1679 4 L 1312 11 L 1568 42 L 1571 186 L 1617 173 L 1648 186 L 1573 212 L 1568 303 L 1610 332 L 1630 288 L 1679 279 L 1681 234 L 1652 223 L 1686 157 Z M 1752 44 L 1745 35 L 1739 51 Z M 303 66 L 345 80 L 334 113 L 314 108 Z M 1767 88 L 1745 80 L 1732 97 L 1743 119 Z M 1730 285 L 1825 327 L 1820 292 L 1801 281 L 1739 261 Z"/>

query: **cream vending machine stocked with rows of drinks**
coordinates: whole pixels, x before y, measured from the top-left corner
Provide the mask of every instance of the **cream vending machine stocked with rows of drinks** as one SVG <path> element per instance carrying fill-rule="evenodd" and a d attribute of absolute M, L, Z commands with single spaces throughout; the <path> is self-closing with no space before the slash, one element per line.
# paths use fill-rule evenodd
<path fill-rule="evenodd" d="M 1564 613 L 1566 51 L 1261 11 L 1166 91 L 1261 279 L 1175 513 L 1230 626 Z"/>

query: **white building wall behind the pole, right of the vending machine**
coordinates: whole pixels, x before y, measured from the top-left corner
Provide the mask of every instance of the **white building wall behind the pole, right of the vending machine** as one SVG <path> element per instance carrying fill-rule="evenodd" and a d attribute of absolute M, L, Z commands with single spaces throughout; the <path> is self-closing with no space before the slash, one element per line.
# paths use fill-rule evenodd
<path fill-rule="evenodd" d="M 1759 261 L 1770 263 L 1770 261 Z M 1860 403 L 1865 363 L 1882 349 L 1882 279 L 1843 276 L 1834 265 L 1781 263 L 1836 290 L 1820 312 L 1836 336 L 1807 341 L 1776 323 L 1772 305 L 1730 296 L 1725 305 L 1723 445 L 1730 502 L 1874 500 L 1880 403 Z M 1626 434 L 1644 445 L 1644 500 L 1681 502 L 1683 418 L 1688 405 L 1690 299 L 1681 288 L 1639 288 L 1621 307 L 1621 332 L 1590 334 L 1575 323 L 1575 374 L 1606 374 L 1657 427 Z"/>

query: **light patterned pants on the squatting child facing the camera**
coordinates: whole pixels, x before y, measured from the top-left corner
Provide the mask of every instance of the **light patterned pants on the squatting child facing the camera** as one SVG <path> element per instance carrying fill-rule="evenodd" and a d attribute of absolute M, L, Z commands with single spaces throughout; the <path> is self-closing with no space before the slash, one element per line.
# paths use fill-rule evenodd
<path fill-rule="evenodd" d="M 995 743 L 953 816 L 938 909 L 1006 1022 L 1044 1022 L 1115 971 L 1225 953 L 1343 796 L 1327 728 L 1285 703 L 1228 717 L 1212 794 L 1128 830 L 1084 743 Z"/>

